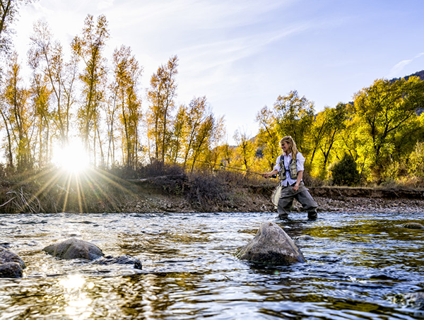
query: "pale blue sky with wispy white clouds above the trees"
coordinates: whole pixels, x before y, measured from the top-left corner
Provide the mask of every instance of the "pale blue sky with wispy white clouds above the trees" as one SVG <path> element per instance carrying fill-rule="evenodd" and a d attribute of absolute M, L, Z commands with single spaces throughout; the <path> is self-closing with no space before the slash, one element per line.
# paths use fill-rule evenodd
<path fill-rule="evenodd" d="M 206 95 L 225 116 L 229 142 L 236 129 L 257 134 L 259 109 L 290 90 L 321 111 L 377 78 L 424 69 L 422 0 L 40 0 L 15 24 L 20 59 L 35 20 L 68 47 L 88 13 L 109 21 L 107 57 L 131 47 L 144 69 L 143 96 L 176 54 L 177 103 Z"/>

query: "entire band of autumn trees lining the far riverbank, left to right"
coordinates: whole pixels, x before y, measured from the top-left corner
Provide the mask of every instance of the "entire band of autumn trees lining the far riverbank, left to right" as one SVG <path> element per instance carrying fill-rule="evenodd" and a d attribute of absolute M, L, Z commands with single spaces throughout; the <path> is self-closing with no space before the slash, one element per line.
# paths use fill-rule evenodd
<path fill-rule="evenodd" d="M 318 113 L 312 101 L 291 91 L 259 110 L 257 136 L 236 131 L 237 146 L 230 146 L 224 119 L 213 114 L 206 97 L 176 105 L 177 56 L 151 76 L 143 101 L 143 67 L 125 45 L 107 59 L 109 36 L 105 16 L 88 15 L 66 58 L 48 25 L 35 23 L 26 56 L 30 81 L 23 81 L 18 53 L 9 52 L 0 89 L 7 170 L 45 167 L 55 148 L 78 137 L 93 165 L 102 168 L 137 170 L 161 162 L 191 171 L 264 172 L 281 153 L 279 139 L 291 135 L 317 181 L 334 181 L 340 172 L 334 168 L 351 161 L 357 174 L 346 184 L 423 184 L 424 82 L 418 77 L 377 80 L 353 102 Z"/>

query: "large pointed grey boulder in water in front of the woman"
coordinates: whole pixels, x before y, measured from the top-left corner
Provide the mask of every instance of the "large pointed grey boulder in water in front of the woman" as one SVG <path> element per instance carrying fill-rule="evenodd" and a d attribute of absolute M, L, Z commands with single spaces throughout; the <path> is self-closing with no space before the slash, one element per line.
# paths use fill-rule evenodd
<path fill-rule="evenodd" d="M 242 260 L 274 265 L 305 262 L 295 242 L 276 223 L 263 223 L 252 241 L 235 255 Z"/>

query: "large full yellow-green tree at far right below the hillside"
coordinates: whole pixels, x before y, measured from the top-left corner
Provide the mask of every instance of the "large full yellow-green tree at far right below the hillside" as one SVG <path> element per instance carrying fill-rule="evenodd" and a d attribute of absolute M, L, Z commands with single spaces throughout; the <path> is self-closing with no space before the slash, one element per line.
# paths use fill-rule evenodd
<path fill-rule="evenodd" d="M 406 140 L 416 131 L 416 112 L 424 106 L 424 81 L 418 77 L 394 82 L 380 79 L 356 93 L 354 103 L 362 133 L 370 138 L 372 171 L 380 181 L 395 153 L 413 148 Z"/>

